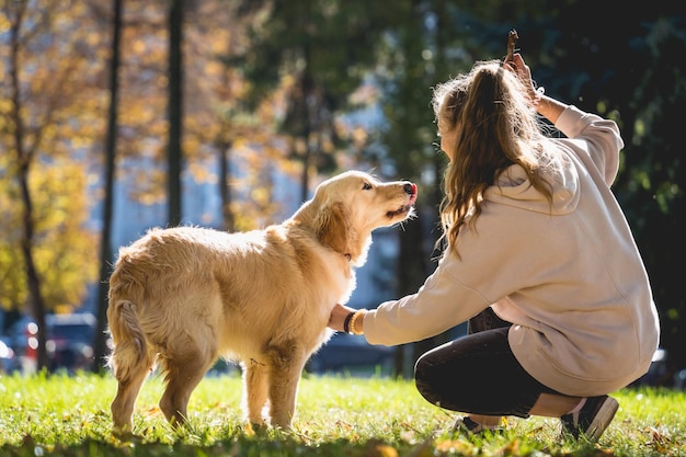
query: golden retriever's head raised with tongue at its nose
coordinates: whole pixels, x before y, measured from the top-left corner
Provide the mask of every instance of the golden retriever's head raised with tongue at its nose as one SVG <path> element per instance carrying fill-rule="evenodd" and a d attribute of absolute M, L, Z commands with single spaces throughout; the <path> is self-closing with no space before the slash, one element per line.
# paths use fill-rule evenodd
<path fill-rule="evenodd" d="M 364 264 L 371 231 L 414 215 L 416 185 L 409 181 L 380 182 L 361 171 L 347 171 L 322 182 L 308 202 L 319 241 Z"/>

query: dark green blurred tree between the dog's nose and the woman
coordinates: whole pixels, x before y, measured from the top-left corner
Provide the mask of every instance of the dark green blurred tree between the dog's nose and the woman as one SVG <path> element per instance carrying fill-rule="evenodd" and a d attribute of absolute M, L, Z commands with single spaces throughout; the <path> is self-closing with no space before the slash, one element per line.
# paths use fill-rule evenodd
<path fill-rule="evenodd" d="M 405 0 L 396 3 L 392 24 L 379 49 L 377 80 L 382 88 L 381 105 L 386 123 L 378 135 L 382 145 L 377 160 L 390 162 L 393 174 L 419 183 L 415 205 L 419 218 L 399 232 L 398 262 L 395 266 L 398 296 L 415 293 L 433 272 L 436 263 L 432 252 L 439 235 L 437 207 L 441 196 L 439 175 L 443 153 L 435 144 L 436 128 L 430 106 L 431 88 L 438 75 L 448 72 L 442 57 L 447 46 L 443 35 L 445 15 L 431 1 Z M 396 370 L 412 375 L 419 354 L 435 346 L 445 336 L 437 336 L 408 346 L 396 353 Z"/>

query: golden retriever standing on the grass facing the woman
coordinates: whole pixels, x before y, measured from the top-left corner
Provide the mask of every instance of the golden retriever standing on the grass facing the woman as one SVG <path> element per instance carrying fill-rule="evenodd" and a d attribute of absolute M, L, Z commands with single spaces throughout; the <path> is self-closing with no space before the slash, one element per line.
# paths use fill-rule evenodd
<path fill-rule="evenodd" d="M 248 420 L 290 429 L 302 369 L 333 333 L 371 231 L 413 214 L 416 185 L 348 171 L 322 182 L 293 217 L 263 230 L 152 229 L 122 248 L 110 279 L 114 432 L 133 433 L 136 398 L 156 365 L 160 409 L 182 424 L 219 356 L 240 362 Z"/>

